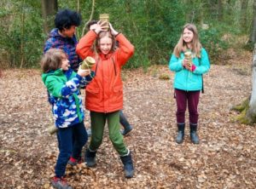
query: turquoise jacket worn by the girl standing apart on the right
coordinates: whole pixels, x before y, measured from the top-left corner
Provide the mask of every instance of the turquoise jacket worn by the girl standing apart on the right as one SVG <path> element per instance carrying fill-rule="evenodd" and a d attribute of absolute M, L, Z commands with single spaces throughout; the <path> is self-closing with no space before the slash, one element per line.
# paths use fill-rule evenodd
<path fill-rule="evenodd" d="M 193 72 L 183 67 L 183 59 L 183 53 L 180 54 L 179 58 L 172 54 L 169 62 L 170 70 L 175 72 L 173 88 L 185 91 L 201 90 L 202 74 L 207 73 L 210 69 L 210 61 L 206 49 L 201 49 L 200 59 L 194 56 L 193 64 L 195 65 L 195 70 Z"/>

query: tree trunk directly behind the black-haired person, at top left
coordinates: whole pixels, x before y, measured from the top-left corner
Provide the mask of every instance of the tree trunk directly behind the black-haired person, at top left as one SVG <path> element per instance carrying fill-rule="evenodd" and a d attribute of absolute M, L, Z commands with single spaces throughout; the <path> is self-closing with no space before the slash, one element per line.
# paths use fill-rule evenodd
<path fill-rule="evenodd" d="M 49 33 L 53 27 L 53 18 L 58 10 L 57 0 L 41 0 L 42 14 L 44 18 L 44 32 Z"/>

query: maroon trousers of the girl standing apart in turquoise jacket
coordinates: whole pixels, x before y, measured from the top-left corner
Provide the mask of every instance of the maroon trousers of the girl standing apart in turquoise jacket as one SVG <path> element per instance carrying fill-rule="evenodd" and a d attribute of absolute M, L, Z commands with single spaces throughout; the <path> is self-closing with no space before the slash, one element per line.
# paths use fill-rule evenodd
<path fill-rule="evenodd" d="M 197 106 L 199 102 L 200 90 L 197 91 L 185 91 L 175 89 L 177 112 L 177 123 L 185 123 L 185 112 L 187 105 L 189 108 L 189 123 L 198 123 L 198 111 Z"/>

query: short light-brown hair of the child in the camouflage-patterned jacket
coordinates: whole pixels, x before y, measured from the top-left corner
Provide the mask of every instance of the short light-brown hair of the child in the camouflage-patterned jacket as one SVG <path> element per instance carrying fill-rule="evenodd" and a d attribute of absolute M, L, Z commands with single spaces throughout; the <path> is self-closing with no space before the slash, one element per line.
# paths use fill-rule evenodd
<path fill-rule="evenodd" d="M 41 68 L 44 73 L 55 71 L 61 68 L 62 60 L 67 58 L 67 54 L 61 49 L 49 49 L 41 59 Z"/>

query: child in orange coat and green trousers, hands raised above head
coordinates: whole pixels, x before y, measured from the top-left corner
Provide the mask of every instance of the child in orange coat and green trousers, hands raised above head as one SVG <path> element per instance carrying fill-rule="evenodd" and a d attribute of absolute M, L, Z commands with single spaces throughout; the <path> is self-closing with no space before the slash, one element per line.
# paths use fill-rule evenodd
<path fill-rule="evenodd" d="M 108 31 L 105 22 L 98 22 L 94 30 L 88 31 L 80 39 L 76 48 L 82 59 L 92 56 L 96 60 L 92 68 L 95 77 L 85 89 L 85 106 L 90 110 L 91 120 L 91 140 L 85 162 L 89 167 L 96 165 L 96 151 L 102 144 L 104 125 L 108 122 L 109 138 L 124 164 L 125 177 L 131 178 L 134 168 L 131 152 L 119 132 L 119 111 L 123 109 L 121 67 L 131 58 L 134 47 L 111 24 L 109 28 Z M 114 47 L 115 40 L 119 42 L 117 49 Z M 97 52 L 92 49 L 94 42 Z"/>

